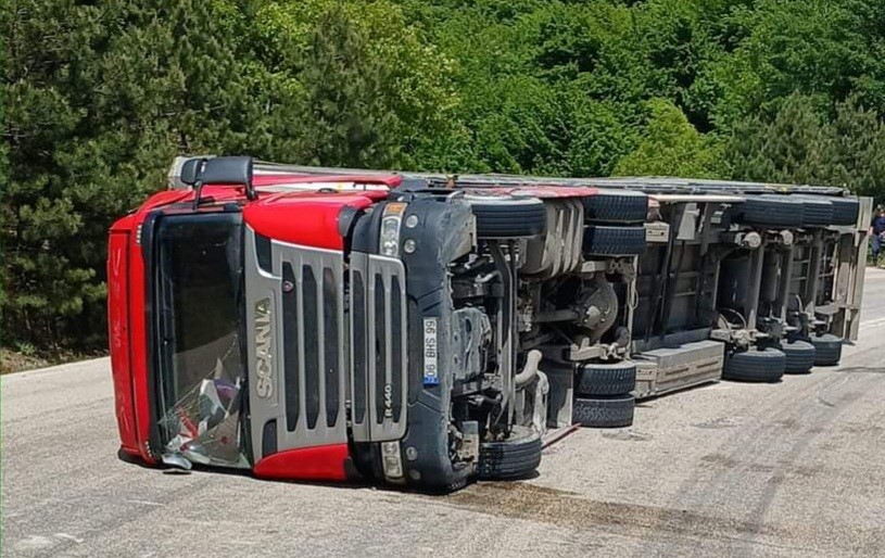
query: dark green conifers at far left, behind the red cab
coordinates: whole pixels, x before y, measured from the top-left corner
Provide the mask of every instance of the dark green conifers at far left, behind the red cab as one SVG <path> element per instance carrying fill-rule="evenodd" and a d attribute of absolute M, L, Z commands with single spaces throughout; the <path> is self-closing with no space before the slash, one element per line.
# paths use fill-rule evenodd
<path fill-rule="evenodd" d="M 11 0 L 2 13 L 3 331 L 99 344 L 108 226 L 164 186 L 177 152 L 246 149 L 258 104 L 212 4 Z"/>

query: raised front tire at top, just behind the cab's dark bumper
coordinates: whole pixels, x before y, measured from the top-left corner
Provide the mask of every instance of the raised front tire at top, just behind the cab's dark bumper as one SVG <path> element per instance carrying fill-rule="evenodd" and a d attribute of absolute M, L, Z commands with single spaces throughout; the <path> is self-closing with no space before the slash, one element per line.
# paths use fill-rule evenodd
<path fill-rule="evenodd" d="M 465 195 L 481 239 L 534 237 L 547 230 L 547 210 L 535 198 L 471 193 Z"/>

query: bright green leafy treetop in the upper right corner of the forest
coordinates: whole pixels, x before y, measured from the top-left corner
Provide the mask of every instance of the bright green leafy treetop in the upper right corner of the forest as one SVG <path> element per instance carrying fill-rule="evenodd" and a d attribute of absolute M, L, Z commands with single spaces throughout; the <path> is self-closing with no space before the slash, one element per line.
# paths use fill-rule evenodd
<path fill-rule="evenodd" d="M 875 37 L 883 31 L 867 35 L 872 15 L 860 4 L 869 2 L 763 0 L 733 12 L 729 21 L 742 39 L 705 71 L 720 91 L 713 109 L 719 126 L 772 112 L 794 92 L 832 109 L 869 77 L 881 79 Z"/>

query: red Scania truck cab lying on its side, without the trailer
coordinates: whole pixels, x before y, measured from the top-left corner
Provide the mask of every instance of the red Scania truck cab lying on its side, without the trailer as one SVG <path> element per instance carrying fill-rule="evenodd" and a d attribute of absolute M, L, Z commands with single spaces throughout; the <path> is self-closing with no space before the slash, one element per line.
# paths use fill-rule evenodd
<path fill-rule="evenodd" d="M 501 452 L 481 458 L 484 440 L 527 457 L 501 475 L 534 469 L 540 429 L 506 403 L 523 388 L 516 348 L 502 378 L 488 316 L 456 308 L 451 292 L 451 267 L 477 243 L 469 204 L 394 191 L 393 174 L 253 177 L 249 157 L 189 164 L 192 189 L 157 193 L 111 228 L 123 453 L 452 490 L 483 467 L 497 474 Z M 528 232 L 540 231 L 543 205 L 529 217 Z"/>

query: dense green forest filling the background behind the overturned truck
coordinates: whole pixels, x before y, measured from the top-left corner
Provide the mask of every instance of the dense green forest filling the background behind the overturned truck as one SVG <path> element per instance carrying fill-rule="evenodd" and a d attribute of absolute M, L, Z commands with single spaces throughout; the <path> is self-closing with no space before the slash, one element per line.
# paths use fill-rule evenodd
<path fill-rule="evenodd" d="M 885 198 L 860 0 L 5 0 L 2 343 L 104 343 L 111 221 L 176 154 Z"/>

